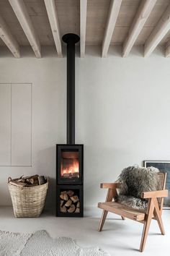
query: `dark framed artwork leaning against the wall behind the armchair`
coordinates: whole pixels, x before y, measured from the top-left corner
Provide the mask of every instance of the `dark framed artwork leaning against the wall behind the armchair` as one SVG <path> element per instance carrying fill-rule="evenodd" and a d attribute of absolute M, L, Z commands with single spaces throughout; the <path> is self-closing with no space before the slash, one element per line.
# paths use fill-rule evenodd
<path fill-rule="evenodd" d="M 156 167 L 161 172 L 166 172 L 166 189 L 169 190 L 169 197 L 164 198 L 164 209 L 170 209 L 170 161 L 143 161 L 144 167 Z"/>

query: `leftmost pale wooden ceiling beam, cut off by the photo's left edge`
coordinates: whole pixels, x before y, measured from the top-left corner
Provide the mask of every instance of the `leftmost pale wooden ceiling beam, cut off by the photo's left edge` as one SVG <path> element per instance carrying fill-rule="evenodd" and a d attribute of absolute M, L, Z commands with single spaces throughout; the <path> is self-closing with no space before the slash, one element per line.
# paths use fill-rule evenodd
<path fill-rule="evenodd" d="M 0 16 L 0 38 L 12 52 L 15 58 L 20 58 L 20 49 L 4 19 Z"/>

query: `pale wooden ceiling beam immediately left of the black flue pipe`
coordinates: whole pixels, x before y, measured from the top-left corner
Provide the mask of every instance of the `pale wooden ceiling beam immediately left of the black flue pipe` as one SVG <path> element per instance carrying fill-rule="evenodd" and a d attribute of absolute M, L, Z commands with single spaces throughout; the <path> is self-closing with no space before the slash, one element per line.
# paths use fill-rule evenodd
<path fill-rule="evenodd" d="M 62 58 L 62 46 L 61 46 L 61 33 L 58 23 L 58 15 L 55 6 L 55 0 L 44 0 L 45 7 L 48 13 L 48 19 L 50 21 L 50 27 L 53 33 L 53 38 L 55 41 L 55 47 L 58 53 L 58 57 Z"/>

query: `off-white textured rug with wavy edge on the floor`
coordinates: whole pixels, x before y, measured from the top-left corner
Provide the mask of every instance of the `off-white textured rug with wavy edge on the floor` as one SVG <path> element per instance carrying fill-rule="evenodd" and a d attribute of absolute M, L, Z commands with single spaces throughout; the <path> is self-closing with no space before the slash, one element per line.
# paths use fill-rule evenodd
<path fill-rule="evenodd" d="M 79 247 L 69 237 L 53 239 L 47 231 L 18 234 L 0 231 L 0 256 L 108 256 L 98 247 Z"/>

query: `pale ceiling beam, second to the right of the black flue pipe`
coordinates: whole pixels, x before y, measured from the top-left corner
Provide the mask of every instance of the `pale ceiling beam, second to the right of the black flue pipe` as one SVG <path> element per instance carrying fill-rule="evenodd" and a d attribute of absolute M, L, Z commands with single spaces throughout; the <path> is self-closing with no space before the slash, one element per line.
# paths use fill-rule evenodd
<path fill-rule="evenodd" d="M 120 6 L 122 4 L 122 0 L 111 0 L 109 15 L 107 18 L 107 25 L 105 28 L 104 39 L 102 43 L 102 57 L 107 57 L 107 51 L 109 49 L 109 44 L 112 39 L 112 34 L 115 29 L 115 24 L 117 20 L 117 16 L 120 12 Z"/>

